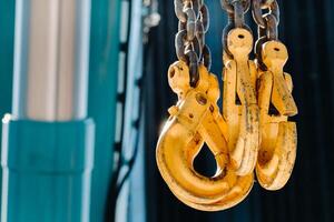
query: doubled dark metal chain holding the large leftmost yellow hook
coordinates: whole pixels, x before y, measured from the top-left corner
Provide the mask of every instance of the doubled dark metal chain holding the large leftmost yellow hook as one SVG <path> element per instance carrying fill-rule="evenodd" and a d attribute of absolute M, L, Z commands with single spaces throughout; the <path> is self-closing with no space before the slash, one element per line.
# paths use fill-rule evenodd
<path fill-rule="evenodd" d="M 209 28 L 209 13 L 204 0 L 174 0 L 178 18 L 178 32 L 175 37 L 176 54 L 187 62 L 190 71 L 190 85 L 199 80 L 198 65 L 208 70 L 212 65 L 210 50 L 205 43 L 205 33 Z"/>

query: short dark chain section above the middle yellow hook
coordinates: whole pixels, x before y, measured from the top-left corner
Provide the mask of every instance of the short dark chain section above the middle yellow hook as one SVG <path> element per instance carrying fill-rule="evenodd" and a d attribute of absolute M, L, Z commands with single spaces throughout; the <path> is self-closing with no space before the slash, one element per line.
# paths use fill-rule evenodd
<path fill-rule="evenodd" d="M 249 10 L 250 0 L 220 0 L 220 4 L 228 16 L 227 26 L 223 30 L 223 48 L 229 57 L 233 57 L 227 48 L 227 34 L 234 28 L 244 28 L 252 32 L 245 23 L 245 13 Z"/>

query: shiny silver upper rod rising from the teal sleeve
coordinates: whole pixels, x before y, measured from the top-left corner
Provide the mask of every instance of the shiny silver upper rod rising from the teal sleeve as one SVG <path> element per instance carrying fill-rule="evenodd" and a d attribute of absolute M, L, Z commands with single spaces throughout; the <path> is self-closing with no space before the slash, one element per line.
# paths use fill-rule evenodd
<path fill-rule="evenodd" d="M 90 0 L 18 0 L 16 13 L 12 114 L 86 118 Z"/>

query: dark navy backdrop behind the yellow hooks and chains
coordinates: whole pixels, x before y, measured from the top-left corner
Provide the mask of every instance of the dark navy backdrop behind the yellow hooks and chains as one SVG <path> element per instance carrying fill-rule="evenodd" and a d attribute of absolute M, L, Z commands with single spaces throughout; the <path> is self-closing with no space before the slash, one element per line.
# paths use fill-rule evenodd
<path fill-rule="evenodd" d="M 219 0 L 206 1 L 210 12 L 207 42 L 213 53 L 212 71 L 220 79 L 222 30 L 226 13 Z M 285 71 L 294 80 L 298 115 L 298 151 L 293 175 L 281 191 L 269 192 L 254 185 L 239 205 L 207 213 L 180 203 L 163 181 L 155 161 L 159 128 L 167 109 L 176 102 L 167 82 L 167 69 L 176 61 L 174 36 L 177 19 L 173 1 L 159 1 L 160 26 L 150 33 L 146 54 L 146 164 L 147 216 L 149 222 L 238 221 L 238 222 L 332 222 L 334 208 L 334 1 L 281 0 L 279 39 L 287 46 Z M 254 21 L 248 12 L 247 23 Z M 255 29 L 254 29 L 255 30 Z M 256 32 L 255 37 L 256 37 Z M 220 82 L 222 83 L 222 82 Z M 212 173 L 212 157 L 204 151 L 197 163 Z M 206 171 L 207 170 L 207 171 Z"/>

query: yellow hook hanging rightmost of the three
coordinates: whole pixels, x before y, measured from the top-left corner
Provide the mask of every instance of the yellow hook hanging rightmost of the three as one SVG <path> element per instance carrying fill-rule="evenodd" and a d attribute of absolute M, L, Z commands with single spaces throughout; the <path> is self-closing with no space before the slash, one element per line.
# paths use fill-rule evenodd
<path fill-rule="evenodd" d="M 262 60 L 267 71 L 259 70 L 258 78 L 262 142 L 256 174 L 259 184 L 267 190 L 278 190 L 286 184 L 296 159 L 296 124 L 287 118 L 297 114 L 297 107 L 291 94 L 292 78 L 283 71 L 287 58 L 287 49 L 279 41 L 262 46 Z"/>

